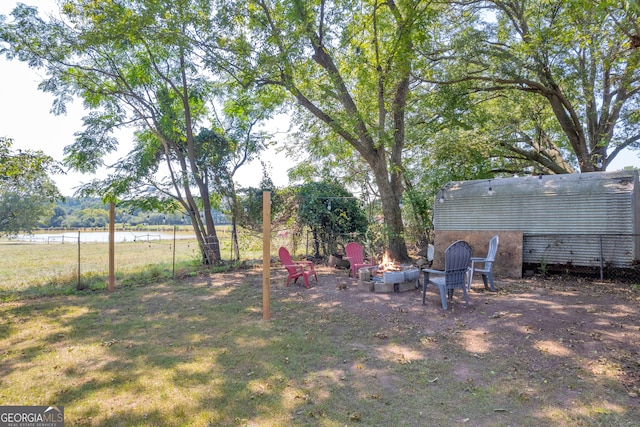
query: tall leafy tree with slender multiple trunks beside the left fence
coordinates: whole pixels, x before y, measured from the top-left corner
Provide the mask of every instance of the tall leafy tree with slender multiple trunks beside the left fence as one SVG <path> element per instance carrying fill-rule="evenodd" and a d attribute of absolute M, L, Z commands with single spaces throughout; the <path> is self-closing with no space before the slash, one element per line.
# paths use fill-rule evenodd
<path fill-rule="evenodd" d="M 95 171 L 119 144 L 113 131 L 135 129 L 134 149 L 107 179 L 81 194 L 182 210 L 191 218 L 203 262 L 217 264 L 211 210 L 220 195 L 211 179 L 216 170 L 208 161 L 212 140 L 206 133 L 221 136 L 224 130 L 215 117 L 220 80 L 194 43 L 196 34 L 210 31 L 210 11 L 210 2 L 196 0 L 65 0 L 62 18 L 45 22 L 35 8 L 19 5 L 0 41 L 8 57 L 47 72 L 41 87 L 54 94 L 55 112 L 64 112 L 73 96 L 90 110 L 84 129 L 65 149 L 69 166 Z M 268 115 L 268 108 L 260 111 Z M 258 146 L 247 146 L 248 153 Z"/>

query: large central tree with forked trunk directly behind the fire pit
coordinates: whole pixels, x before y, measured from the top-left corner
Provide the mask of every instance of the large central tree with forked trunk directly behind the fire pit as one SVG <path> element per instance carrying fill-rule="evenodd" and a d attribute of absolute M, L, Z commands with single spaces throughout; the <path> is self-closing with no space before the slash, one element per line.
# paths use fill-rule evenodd
<path fill-rule="evenodd" d="M 275 85 L 366 162 L 380 192 L 389 251 L 408 259 L 400 199 L 415 48 L 430 2 L 225 2 L 208 40 L 242 82 Z"/>

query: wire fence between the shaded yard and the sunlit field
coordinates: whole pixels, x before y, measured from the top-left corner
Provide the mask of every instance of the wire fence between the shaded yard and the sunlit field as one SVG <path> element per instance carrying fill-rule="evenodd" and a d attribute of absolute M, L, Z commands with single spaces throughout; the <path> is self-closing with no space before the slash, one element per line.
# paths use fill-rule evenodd
<path fill-rule="evenodd" d="M 182 229 L 184 230 L 184 228 Z M 230 227 L 217 227 L 221 260 L 237 261 L 232 251 Z M 201 265 L 202 253 L 192 231 L 177 227 L 157 230 L 118 230 L 115 235 L 116 279 L 143 271 L 182 275 Z M 105 229 L 50 230 L 0 241 L 0 290 L 20 290 L 29 286 L 106 280 L 109 274 L 109 237 Z M 271 235 L 271 261 L 277 261 L 278 248 L 292 248 L 292 254 L 311 253 L 307 233 L 294 235 L 274 231 Z M 262 233 L 239 230 L 240 261 L 262 265 Z"/>

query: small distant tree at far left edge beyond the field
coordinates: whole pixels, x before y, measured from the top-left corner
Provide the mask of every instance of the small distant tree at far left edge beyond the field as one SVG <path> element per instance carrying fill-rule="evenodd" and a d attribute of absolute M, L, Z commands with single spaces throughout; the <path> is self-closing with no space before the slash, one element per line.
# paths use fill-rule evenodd
<path fill-rule="evenodd" d="M 61 197 L 48 176 L 57 163 L 40 151 L 14 152 L 12 143 L 0 137 L 0 235 L 31 232 Z"/>

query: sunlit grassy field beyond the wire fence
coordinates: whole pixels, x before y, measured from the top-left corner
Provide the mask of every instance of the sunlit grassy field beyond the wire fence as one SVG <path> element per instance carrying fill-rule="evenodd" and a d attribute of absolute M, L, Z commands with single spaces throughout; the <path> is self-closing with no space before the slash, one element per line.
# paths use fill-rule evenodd
<path fill-rule="evenodd" d="M 138 232 L 155 236 L 172 229 Z M 231 232 L 229 227 L 218 227 L 221 257 L 231 259 Z M 70 234 L 70 233 L 67 233 Z M 149 278 L 193 274 L 200 268 L 200 252 L 189 231 L 179 231 L 177 238 L 169 240 L 141 239 L 117 242 L 115 270 L 117 281 L 148 281 Z M 34 235 L 37 239 L 38 234 Z M 273 239 L 272 255 L 277 254 L 283 242 Z M 45 240 L 46 241 L 46 240 Z M 239 236 L 241 260 L 262 258 L 262 237 L 249 231 Z M 108 243 L 65 243 L 0 241 L 0 299 L 15 299 L 28 295 L 54 295 L 80 288 L 101 288 L 108 280 Z M 147 277 L 147 279 L 144 278 Z M 79 286 L 78 286 L 79 285 Z"/>

